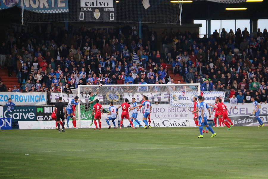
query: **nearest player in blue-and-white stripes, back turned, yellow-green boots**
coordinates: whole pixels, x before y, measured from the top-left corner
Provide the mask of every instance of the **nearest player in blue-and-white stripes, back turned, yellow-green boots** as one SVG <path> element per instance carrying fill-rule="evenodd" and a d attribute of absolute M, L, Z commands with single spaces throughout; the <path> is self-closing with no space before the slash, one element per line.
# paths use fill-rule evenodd
<path fill-rule="evenodd" d="M 205 125 L 208 128 L 208 130 L 212 133 L 211 138 L 213 138 L 216 136 L 216 133 L 213 131 L 211 126 L 208 125 L 207 112 L 205 110 L 205 108 L 208 109 L 208 104 L 204 102 L 204 98 L 202 96 L 198 96 L 198 101 L 199 103 L 197 103 L 196 111 L 193 112 L 193 114 L 195 112 L 198 112 L 198 127 L 200 131 L 200 136 L 198 136 L 198 138 L 203 138 L 202 125 Z M 210 118 L 211 117 L 210 110 L 208 110 L 208 112 L 209 112 L 209 118 Z"/>

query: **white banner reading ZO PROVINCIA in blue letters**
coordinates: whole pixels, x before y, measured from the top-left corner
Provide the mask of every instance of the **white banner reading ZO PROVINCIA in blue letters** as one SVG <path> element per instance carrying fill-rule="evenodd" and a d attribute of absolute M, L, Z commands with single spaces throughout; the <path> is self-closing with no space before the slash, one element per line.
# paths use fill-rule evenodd
<path fill-rule="evenodd" d="M 46 92 L 0 92 L 0 105 L 6 105 L 9 98 L 15 105 L 46 104 Z"/>

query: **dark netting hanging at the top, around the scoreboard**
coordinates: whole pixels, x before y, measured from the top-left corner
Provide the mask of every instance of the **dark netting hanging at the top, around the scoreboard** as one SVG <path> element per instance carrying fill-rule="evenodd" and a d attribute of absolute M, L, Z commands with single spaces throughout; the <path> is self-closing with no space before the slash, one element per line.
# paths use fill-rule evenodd
<path fill-rule="evenodd" d="M 179 23 L 179 4 L 169 0 L 149 0 L 145 9 L 142 0 L 68 0 L 68 13 L 35 13 L 24 10 L 24 23 L 36 22 L 139 22 Z"/>

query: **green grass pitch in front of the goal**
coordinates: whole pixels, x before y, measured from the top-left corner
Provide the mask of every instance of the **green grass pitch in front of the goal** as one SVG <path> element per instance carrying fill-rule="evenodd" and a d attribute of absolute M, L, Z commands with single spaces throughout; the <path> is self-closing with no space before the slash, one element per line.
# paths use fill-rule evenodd
<path fill-rule="evenodd" d="M 268 177 L 267 127 L 213 129 L 5 130 L 0 178 Z"/>

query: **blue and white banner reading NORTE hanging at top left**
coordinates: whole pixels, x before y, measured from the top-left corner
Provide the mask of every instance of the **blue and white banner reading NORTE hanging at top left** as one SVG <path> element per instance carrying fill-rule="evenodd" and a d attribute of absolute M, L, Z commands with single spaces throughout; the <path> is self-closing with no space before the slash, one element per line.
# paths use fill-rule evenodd
<path fill-rule="evenodd" d="M 68 0 L 0 0 L 0 10 L 10 7 L 24 7 L 35 13 L 68 13 Z"/>

